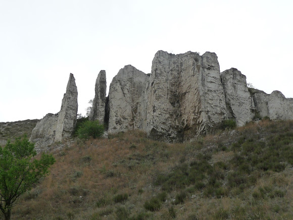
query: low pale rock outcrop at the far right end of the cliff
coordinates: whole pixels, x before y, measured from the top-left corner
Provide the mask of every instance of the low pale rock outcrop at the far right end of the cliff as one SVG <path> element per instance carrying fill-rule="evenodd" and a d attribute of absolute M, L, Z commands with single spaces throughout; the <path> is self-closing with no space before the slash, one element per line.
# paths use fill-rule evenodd
<path fill-rule="evenodd" d="M 256 91 L 253 95 L 256 112 L 261 117 L 268 116 L 272 120 L 293 120 L 293 99 L 286 99 L 279 91 L 270 95 Z"/>

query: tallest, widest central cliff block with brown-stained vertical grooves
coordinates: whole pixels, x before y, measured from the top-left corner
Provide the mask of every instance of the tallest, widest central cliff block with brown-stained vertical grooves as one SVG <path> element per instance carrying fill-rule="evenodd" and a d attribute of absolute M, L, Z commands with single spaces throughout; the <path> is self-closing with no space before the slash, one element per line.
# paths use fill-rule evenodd
<path fill-rule="evenodd" d="M 147 93 L 146 132 L 153 139 L 188 140 L 206 134 L 225 118 L 225 97 L 214 53 L 157 52 Z"/>

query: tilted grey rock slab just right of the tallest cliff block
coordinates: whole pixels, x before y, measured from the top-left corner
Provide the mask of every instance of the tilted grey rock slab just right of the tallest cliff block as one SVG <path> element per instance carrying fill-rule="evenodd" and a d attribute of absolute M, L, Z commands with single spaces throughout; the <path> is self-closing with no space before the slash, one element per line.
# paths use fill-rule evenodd
<path fill-rule="evenodd" d="M 248 91 L 246 76 L 235 68 L 220 74 L 226 100 L 226 117 L 235 119 L 237 126 L 252 120 L 254 107 Z"/>

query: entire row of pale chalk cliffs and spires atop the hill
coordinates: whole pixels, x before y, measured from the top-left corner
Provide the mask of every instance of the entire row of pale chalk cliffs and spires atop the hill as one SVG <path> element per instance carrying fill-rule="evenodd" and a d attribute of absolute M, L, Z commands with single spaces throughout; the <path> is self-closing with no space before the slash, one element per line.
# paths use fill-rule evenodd
<path fill-rule="evenodd" d="M 293 99 L 248 88 L 235 68 L 220 73 L 215 53 L 155 54 L 150 74 L 131 65 L 120 69 L 106 97 L 106 72 L 95 81 L 89 120 L 104 123 L 108 133 L 140 129 L 148 137 L 182 142 L 205 135 L 225 119 L 245 125 L 256 116 L 293 120 Z M 70 137 L 77 115 L 77 87 L 70 74 L 58 114 L 47 114 L 33 129 L 36 146 Z"/>

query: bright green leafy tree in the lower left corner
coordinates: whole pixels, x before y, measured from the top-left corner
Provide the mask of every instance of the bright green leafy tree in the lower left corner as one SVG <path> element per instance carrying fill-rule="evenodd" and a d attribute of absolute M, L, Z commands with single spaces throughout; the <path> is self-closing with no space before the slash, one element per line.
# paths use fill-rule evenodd
<path fill-rule="evenodd" d="M 40 159 L 34 159 L 35 155 L 34 144 L 26 136 L 14 143 L 8 141 L 4 148 L 0 146 L 0 210 L 5 219 L 10 219 L 18 197 L 45 177 L 55 162 L 52 155 L 42 154 Z"/>

